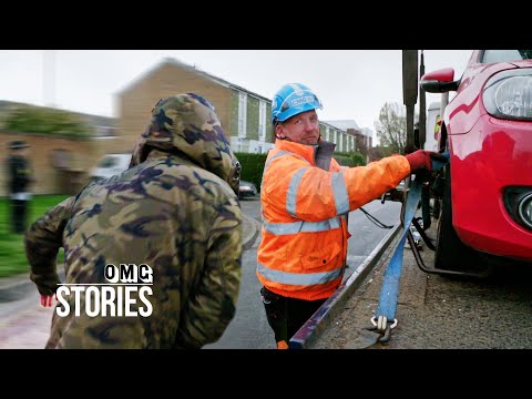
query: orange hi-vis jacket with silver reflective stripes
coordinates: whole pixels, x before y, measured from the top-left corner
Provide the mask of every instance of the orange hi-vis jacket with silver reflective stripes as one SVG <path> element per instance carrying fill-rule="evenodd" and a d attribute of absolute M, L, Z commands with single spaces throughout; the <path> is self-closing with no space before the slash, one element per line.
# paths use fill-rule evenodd
<path fill-rule="evenodd" d="M 262 241 L 257 277 L 270 291 L 298 299 L 328 298 L 338 288 L 347 257 L 347 216 L 395 188 L 410 174 L 405 156 L 366 166 L 323 164 L 317 145 L 277 140 L 266 158 L 260 188 Z M 321 151 L 321 150 L 320 150 Z M 324 166 L 325 165 L 325 166 Z"/>

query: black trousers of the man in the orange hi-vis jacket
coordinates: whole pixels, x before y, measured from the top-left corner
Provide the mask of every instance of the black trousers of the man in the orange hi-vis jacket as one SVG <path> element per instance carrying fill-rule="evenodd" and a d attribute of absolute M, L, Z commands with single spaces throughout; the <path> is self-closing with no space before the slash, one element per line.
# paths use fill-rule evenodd
<path fill-rule="evenodd" d="M 266 309 L 266 318 L 275 332 L 275 341 L 286 344 L 327 300 L 326 298 L 317 300 L 288 298 L 272 293 L 266 287 L 260 289 L 260 296 Z"/>

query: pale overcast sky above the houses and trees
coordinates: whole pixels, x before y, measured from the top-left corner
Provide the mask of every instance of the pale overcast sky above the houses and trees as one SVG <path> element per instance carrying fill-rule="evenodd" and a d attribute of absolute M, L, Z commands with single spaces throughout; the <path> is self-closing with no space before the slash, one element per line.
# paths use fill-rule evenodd
<path fill-rule="evenodd" d="M 470 54 L 424 50 L 426 72 L 451 66 L 459 79 Z M 0 50 L 0 100 L 119 116 L 116 93 L 166 57 L 268 99 L 304 83 L 321 100 L 323 121 L 375 131 L 386 102 L 402 104 L 401 50 Z M 428 94 L 427 108 L 438 100 Z"/>

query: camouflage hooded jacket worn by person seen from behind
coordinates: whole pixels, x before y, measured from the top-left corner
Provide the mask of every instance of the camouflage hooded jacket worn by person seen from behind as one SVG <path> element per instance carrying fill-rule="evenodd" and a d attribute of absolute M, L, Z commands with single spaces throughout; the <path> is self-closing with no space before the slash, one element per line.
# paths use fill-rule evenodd
<path fill-rule="evenodd" d="M 47 348 L 201 348 L 216 341 L 234 317 L 241 283 L 238 174 L 208 102 L 192 93 L 160 101 L 130 168 L 57 205 L 24 238 L 41 295 L 58 289 L 55 259 L 63 247 L 66 284 L 108 284 L 109 264 L 149 265 L 153 311 L 117 316 L 126 299 L 117 301 L 124 294 L 116 290 L 106 317 L 88 315 L 98 295 L 83 290 L 76 304 L 71 293 L 70 314 L 54 313 Z M 130 296 L 132 310 L 143 305 L 137 293 Z M 62 303 L 57 307 L 64 310 Z"/>

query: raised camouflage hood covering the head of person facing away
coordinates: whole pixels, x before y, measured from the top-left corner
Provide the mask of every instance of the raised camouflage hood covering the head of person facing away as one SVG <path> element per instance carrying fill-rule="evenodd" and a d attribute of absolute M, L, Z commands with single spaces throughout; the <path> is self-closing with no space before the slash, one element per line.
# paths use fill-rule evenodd
<path fill-rule="evenodd" d="M 185 157 L 226 181 L 238 194 L 241 164 L 231 150 L 214 106 L 194 93 L 160 100 L 139 139 L 130 167 L 152 150 Z"/>

